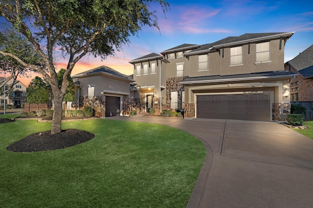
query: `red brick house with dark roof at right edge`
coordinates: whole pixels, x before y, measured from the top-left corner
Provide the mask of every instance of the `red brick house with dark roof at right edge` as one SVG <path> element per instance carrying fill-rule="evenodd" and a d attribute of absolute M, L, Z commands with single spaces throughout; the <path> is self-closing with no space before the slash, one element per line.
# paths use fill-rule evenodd
<path fill-rule="evenodd" d="M 291 101 L 313 101 L 313 45 L 287 61 L 285 70 L 299 74 L 290 80 Z"/>

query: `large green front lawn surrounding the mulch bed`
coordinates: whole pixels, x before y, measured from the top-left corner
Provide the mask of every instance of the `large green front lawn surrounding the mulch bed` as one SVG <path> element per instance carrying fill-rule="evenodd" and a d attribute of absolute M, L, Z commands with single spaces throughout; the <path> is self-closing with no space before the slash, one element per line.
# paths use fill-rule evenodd
<path fill-rule="evenodd" d="M 56 151 L 6 151 L 50 125 L 0 124 L 2 208 L 186 207 L 206 153 L 194 136 L 163 125 L 95 119 L 62 124 L 93 132 L 88 142 Z"/>

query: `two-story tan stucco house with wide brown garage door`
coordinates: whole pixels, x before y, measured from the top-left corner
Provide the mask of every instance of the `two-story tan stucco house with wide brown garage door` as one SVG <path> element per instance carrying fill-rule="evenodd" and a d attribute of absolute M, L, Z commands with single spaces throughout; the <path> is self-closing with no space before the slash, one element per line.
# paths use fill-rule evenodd
<path fill-rule="evenodd" d="M 136 58 L 140 103 L 146 112 L 183 109 L 185 118 L 284 120 L 296 75 L 284 71 L 284 48 L 293 34 L 244 34 Z"/>

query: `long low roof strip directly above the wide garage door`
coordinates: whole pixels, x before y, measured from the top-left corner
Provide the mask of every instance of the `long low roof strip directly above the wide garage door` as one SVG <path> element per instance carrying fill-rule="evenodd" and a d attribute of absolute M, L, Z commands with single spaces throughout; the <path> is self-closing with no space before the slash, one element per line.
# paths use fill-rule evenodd
<path fill-rule="evenodd" d="M 273 72 L 258 72 L 249 74 L 238 75 L 215 75 L 215 76 L 197 76 L 188 77 L 181 81 L 181 84 L 196 84 L 196 83 L 215 83 L 215 82 L 228 82 L 228 81 L 244 81 L 244 80 L 256 80 L 256 79 L 268 79 L 268 78 L 280 78 L 280 77 L 292 77 L 298 74 L 290 71 L 273 71 Z"/>

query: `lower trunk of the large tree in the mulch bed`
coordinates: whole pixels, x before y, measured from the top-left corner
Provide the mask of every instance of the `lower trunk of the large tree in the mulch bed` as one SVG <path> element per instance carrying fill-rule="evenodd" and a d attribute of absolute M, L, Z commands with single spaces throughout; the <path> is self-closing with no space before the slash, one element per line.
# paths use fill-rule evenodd
<path fill-rule="evenodd" d="M 63 111 L 63 97 L 53 98 L 54 111 L 52 117 L 51 134 L 61 133 L 61 120 Z"/>

